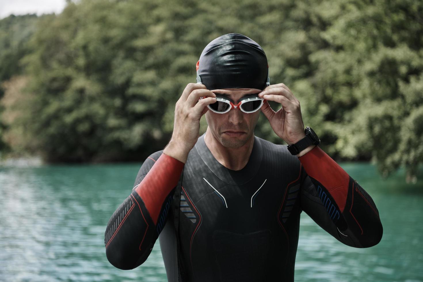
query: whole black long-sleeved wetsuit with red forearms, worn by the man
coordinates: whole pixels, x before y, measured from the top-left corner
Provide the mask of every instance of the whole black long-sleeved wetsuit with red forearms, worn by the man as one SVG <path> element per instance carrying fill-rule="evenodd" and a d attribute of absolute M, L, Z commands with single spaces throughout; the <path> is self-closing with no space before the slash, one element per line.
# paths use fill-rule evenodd
<path fill-rule="evenodd" d="M 302 211 L 343 244 L 362 248 L 381 240 L 371 197 L 318 146 L 298 158 L 286 145 L 254 138 L 239 171 L 217 162 L 204 134 L 185 165 L 162 151 L 148 157 L 107 226 L 110 263 L 139 266 L 159 237 L 168 280 L 177 281 L 171 204 L 182 167 L 179 239 L 186 281 L 293 281 Z"/>

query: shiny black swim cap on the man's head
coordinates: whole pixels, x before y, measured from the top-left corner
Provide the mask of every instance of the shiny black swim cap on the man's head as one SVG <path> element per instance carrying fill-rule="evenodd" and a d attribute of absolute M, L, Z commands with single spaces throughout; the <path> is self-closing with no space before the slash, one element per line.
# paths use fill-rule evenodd
<path fill-rule="evenodd" d="M 263 49 L 239 33 L 222 35 L 204 48 L 197 62 L 197 83 L 209 90 L 256 88 L 269 83 L 269 65 Z"/>

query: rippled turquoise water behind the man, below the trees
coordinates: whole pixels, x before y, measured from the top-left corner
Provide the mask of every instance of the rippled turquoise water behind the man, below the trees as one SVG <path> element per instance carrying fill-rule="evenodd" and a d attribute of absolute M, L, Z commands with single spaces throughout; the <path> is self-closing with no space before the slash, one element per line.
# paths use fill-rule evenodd
<path fill-rule="evenodd" d="M 383 181 L 367 163 L 340 163 L 376 203 L 382 241 L 345 246 L 302 214 L 296 281 L 423 281 L 423 181 Z M 104 230 L 140 164 L 0 168 L 0 281 L 166 281 L 159 244 L 133 270 L 107 261 Z M 420 175 L 420 178 L 423 178 Z"/>

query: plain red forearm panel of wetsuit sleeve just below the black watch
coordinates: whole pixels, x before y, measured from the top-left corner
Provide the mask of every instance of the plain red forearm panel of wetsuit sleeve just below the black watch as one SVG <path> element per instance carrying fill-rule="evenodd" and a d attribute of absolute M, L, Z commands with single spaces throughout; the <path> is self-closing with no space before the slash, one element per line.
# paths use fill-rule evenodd
<path fill-rule="evenodd" d="M 298 159 L 307 174 L 319 181 L 330 192 L 339 210 L 343 212 L 348 195 L 348 173 L 319 146 L 314 147 Z"/>

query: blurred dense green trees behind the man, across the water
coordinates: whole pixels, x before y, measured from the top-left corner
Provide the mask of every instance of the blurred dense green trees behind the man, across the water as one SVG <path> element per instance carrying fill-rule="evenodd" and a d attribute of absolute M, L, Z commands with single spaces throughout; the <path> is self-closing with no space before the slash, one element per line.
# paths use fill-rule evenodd
<path fill-rule="evenodd" d="M 372 159 L 383 175 L 404 165 L 412 179 L 423 160 L 422 15 L 411 0 L 69 3 L 25 45 L 3 140 L 52 161 L 142 160 L 168 142 L 202 49 L 236 32 L 264 48 L 271 83 L 292 90 L 324 151 Z M 283 143 L 263 115 L 256 135 Z"/>

